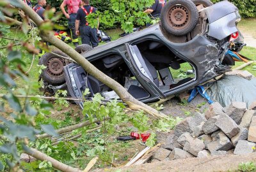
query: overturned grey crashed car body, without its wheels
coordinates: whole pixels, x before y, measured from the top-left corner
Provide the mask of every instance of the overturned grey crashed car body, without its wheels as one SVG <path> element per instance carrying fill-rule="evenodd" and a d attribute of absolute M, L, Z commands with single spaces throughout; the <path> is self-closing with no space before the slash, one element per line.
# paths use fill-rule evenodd
<path fill-rule="evenodd" d="M 195 28 L 184 36 L 170 34 L 161 20 L 159 24 L 81 55 L 127 88 L 136 99 L 149 103 L 230 71 L 234 61 L 225 55 L 227 50 L 243 47 L 241 34 L 233 38 L 234 33 L 239 32 L 236 25 L 240 18 L 234 4 L 221 1 L 199 10 Z M 66 65 L 63 76 L 63 85 L 47 83 L 48 86 L 61 89 L 67 85 L 70 96 L 77 98 L 83 97 L 86 88 L 92 94 L 100 92 L 106 99 L 115 97 L 108 86 L 77 64 Z"/>

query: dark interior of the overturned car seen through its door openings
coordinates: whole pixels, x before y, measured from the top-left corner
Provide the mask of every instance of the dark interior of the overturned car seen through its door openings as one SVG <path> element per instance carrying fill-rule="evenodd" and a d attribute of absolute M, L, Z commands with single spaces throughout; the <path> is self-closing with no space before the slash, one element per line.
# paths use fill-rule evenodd
<path fill-rule="evenodd" d="M 149 78 L 161 92 L 166 93 L 180 85 L 188 83 L 195 78 L 193 67 L 188 62 L 173 54 L 172 50 L 163 43 L 147 40 L 131 45 L 132 59 L 138 59 L 140 72 Z M 136 99 L 146 99 L 150 94 L 145 90 L 128 68 L 123 57 L 119 54 L 108 54 L 92 64 L 103 73 L 123 85 Z M 113 90 L 99 82 L 96 78 L 88 76 L 80 67 L 76 69 L 77 81 L 81 92 L 88 87 L 94 94 L 100 92 L 106 99 L 118 98 Z M 138 77 L 138 76 L 137 76 Z M 87 80 L 88 79 L 88 80 Z M 89 82 L 86 82 L 89 81 Z"/>

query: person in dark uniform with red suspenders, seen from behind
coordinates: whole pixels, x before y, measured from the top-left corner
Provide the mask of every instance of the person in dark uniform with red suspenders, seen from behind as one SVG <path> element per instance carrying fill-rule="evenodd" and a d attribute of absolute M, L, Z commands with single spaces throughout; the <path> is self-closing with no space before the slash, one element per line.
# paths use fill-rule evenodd
<path fill-rule="evenodd" d="M 82 43 L 97 47 L 99 39 L 97 38 L 97 28 L 92 28 L 86 21 L 86 16 L 95 13 L 96 8 L 90 6 L 90 0 L 82 0 L 83 7 L 77 11 L 76 15 L 76 34 L 81 35 Z M 98 25 L 99 27 L 99 25 Z"/>

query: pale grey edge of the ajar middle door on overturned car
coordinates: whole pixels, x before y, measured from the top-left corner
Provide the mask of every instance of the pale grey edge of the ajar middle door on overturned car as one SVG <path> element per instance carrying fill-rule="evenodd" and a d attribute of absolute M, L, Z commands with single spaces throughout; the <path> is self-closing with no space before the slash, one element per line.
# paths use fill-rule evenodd
<path fill-rule="evenodd" d="M 125 46 L 127 48 L 128 59 L 131 62 L 131 67 L 134 70 L 134 76 L 137 80 L 141 83 L 144 89 L 150 89 L 159 97 L 165 99 L 166 96 L 154 83 L 154 78 L 146 65 L 145 59 L 141 56 L 138 47 L 136 45 L 129 45 L 129 43 L 125 43 Z"/>

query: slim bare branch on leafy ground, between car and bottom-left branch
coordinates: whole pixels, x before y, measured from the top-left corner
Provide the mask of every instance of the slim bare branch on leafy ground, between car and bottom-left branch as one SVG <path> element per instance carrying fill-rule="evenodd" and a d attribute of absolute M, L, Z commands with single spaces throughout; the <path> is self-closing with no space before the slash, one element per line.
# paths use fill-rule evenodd
<path fill-rule="evenodd" d="M 109 119 L 110 119 L 109 117 L 105 118 L 105 120 L 109 120 Z M 58 133 L 58 134 L 67 133 L 69 131 L 79 129 L 81 127 L 85 127 L 85 126 L 91 125 L 91 124 L 96 123 L 96 122 L 100 122 L 100 120 L 98 120 L 97 118 L 93 119 L 92 122 L 90 122 L 89 120 L 86 120 L 85 122 L 81 122 L 79 124 L 64 127 L 62 129 L 57 129 L 55 132 Z M 36 135 L 36 138 L 42 139 L 42 138 L 48 138 L 49 136 L 50 136 L 49 134 L 45 133 L 45 134 L 41 134 L 41 135 Z"/>

